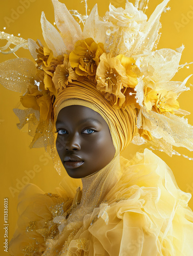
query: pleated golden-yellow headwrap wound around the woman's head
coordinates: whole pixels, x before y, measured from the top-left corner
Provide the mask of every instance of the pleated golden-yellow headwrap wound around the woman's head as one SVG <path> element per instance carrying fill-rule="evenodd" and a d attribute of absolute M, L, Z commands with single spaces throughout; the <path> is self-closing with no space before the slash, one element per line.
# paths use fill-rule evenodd
<path fill-rule="evenodd" d="M 125 109 L 114 109 L 96 90 L 92 81 L 73 81 L 66 89 L 60 91 L 54 102 L 54 118 L 59 111 L 69 105 L 82 105 L 99 113 L 109 125 L 117 155 L 132 141 L 137 131 L 136 110 L 131 105 Z"/>

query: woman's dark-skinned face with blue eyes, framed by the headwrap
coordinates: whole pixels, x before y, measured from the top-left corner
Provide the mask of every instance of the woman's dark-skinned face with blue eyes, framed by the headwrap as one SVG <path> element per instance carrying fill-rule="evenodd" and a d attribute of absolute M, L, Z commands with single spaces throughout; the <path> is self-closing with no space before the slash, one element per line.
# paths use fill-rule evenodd
<path fill-rule="evenodd" d="M 83 178 L 105 167 L 115 155 L 109 126 L 100 114 L 86 106 L 71 105 L 60 110 L 56 148 L 72 178 Z"/>

